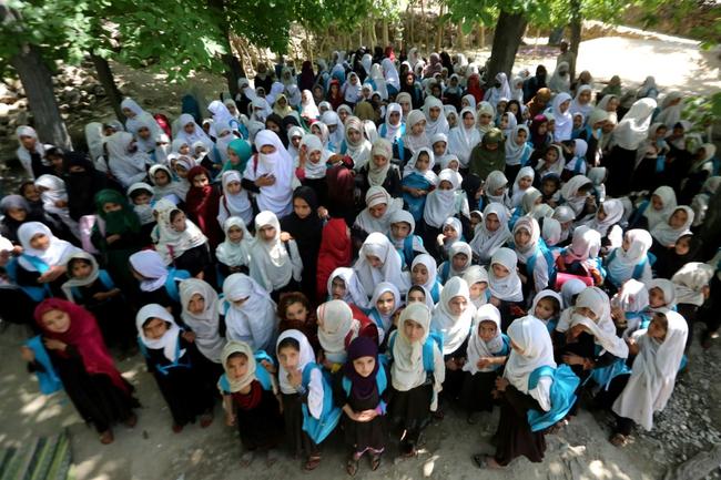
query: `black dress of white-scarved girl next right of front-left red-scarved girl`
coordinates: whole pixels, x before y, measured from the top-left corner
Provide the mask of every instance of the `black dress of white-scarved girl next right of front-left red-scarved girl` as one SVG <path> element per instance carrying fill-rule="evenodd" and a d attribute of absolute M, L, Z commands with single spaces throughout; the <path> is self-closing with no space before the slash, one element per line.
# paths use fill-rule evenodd
<path fill-rule="evenodd" d="M 213 391 L 195 366 L 201 354 L 195 345 L 187 343 L 179 334 L 180 349 L 185 353 L 175 360 L 165 358 L 162 349 L 144 348 L 148 368 L 153 372 L 167 407 L 173 416 L 173 423 L 185 426 L 194 422 L 195 417 L 213 408 Z M 159 369 L 161 367 L 164 371 Z"/>

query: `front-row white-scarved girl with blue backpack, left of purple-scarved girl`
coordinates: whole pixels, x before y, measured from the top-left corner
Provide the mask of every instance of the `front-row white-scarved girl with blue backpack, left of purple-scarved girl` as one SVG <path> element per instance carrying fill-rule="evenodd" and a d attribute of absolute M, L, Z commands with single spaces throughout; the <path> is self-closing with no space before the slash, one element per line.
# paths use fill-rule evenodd
<path fill-rule="evenodd" d="M 298 330 L 285 330 L 276 343 L 278 384 L 285 435 L 294 456 L 305 456 L 304 470 L 321 463 L 321 443 L 341 418 L 333 391 L 323 378 L 308 339 Z"/>

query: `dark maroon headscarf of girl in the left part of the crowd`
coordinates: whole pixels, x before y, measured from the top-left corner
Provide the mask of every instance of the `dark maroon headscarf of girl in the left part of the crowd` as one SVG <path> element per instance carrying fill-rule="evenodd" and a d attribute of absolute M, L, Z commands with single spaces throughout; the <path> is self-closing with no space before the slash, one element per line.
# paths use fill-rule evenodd
<path fill-rule="evenodd" d="M 205 234 L 207 243 L 214 251 L 223 239 L 223 232 L 217 223 L 217 210 L 220 206 L 221 195 L 216 187 L 209 184 L 203 187 L 193 185 L 193 178 L 197 175 L 205 175 L 211 180 L 210 173 L 204 167 L 197 165 L 187 172 L 187 181 L 191 188 L 185 196 L 185 212 L 191 221 Z"/>

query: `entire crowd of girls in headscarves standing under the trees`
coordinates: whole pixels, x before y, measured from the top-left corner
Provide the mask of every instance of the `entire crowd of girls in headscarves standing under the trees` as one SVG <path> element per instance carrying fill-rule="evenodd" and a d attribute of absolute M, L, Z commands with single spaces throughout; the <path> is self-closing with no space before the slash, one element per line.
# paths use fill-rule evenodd
<path fill-rule="evenodd" d="M 360 49 L 261 64 L 173 122 L 125 99 L 88 152 L 18 129 L 0 304 L 35 328 L 41 390 L 112 442 L 139 402 L 109 347 L 139 347 L 174 432 L 222 404 L 243 464 L 285 443 L 313 470 L 342 430 L 349 474 L 454 409 L 500 409 L 480 468 L 541 461 L 590 405 L 613 445 L 651 429 L 693 324 L 704 347 L 720 327 L 719 245 L 697 235 L 714 147 L 652 78 L 481 73 Z"/>

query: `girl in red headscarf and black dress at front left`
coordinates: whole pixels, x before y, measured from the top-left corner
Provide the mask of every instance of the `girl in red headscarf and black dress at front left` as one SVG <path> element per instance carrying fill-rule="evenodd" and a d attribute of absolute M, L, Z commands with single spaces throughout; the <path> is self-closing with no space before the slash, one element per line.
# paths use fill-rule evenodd
<path fill-rule="evenodd" d="M 134 427 L 133 409 L 140 404 L 115 367 L 93 316 L 70 302 L 50 298 L 38 305 L 34 317 L 50 366 L 78 413 L 100 433 L 100 442 L 112 443 L 111 427 L 118 421 Z M 48 372 L 29 347 L 22 347 L 22 358 L 31 370 Z"/>

